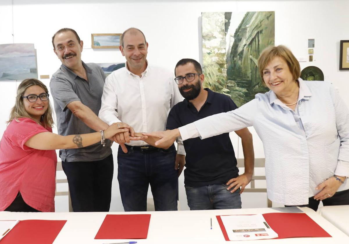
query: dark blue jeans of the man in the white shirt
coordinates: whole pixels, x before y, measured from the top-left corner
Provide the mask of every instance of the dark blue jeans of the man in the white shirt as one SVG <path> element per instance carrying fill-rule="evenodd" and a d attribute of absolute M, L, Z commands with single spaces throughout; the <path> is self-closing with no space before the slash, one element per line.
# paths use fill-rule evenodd
<path fill-rule="evenodd" d="M 147 211 L 150 184 L 156 211 L 177 210 L 178 173 L 174 169 L 176 148 L 141 152 L 127 146 L 118 152 L 118 180 L 125 211 Z"/>

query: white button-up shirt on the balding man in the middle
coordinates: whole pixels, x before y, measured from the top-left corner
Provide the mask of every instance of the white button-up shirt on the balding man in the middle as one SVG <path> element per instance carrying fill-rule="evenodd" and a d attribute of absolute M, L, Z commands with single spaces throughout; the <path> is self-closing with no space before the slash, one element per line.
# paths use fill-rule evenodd
<path fill-rule="evenodd" d="M 174 75 L 163 68 L 147 66 L 141 77 L 127 68 L 113 71 L 105 79 L 99 118 L 111 125 L 129 124 L 135 132 L 153 132 L 166 129 L 171 108 L 182 101 Z M 179 154 L 185 154 L 183 142 L 178 140 Z M 143 141 L 127 145 L 143 146 Z"/>

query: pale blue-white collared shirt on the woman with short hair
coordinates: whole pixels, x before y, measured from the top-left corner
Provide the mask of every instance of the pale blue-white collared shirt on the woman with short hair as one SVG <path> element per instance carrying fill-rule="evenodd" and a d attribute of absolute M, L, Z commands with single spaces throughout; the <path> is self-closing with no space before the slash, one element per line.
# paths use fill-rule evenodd
<path fill-rule="evenodd" d="M 299 80 L 295 111 L 273 91 L 255 97 L 238 109 L 180 127 L 182 139 L 253 125 L 263 142 L 268 198 L 285 205 L 308 204 L 327 178 L 349 176 L 349 111 L 331 84 Z M 348 180 L 338 191 L 347 189 Z"/>

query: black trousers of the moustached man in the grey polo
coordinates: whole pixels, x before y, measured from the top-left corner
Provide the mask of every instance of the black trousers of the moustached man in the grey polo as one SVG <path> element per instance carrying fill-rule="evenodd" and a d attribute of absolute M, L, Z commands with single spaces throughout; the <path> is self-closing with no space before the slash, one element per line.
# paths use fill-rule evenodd
<path fill-rule="evenodd" d="M 113 155 L 92 162 L 62 162 L 74 212 L 108 212 L 113 180 Z"/>

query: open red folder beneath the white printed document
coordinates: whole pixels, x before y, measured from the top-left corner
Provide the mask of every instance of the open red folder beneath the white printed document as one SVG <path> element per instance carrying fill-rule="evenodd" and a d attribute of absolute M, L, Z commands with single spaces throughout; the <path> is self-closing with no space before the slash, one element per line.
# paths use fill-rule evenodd
<path fill-rule="evenodd" d="M 305 213 L 266 213 L 262 215 L 270 228 L 279 235 L 275 239 L 290 237 L 332 237 Z M 225 241 L 230 241 L 221 216 L 218 215 L 216 218 Z"/>

